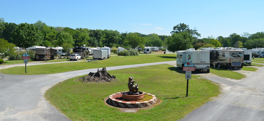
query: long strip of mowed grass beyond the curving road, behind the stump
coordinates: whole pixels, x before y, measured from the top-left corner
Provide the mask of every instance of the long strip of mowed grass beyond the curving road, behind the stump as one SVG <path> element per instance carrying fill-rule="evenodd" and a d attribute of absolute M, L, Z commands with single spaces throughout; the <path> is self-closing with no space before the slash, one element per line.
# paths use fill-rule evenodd
<path fill-rule="evenodd" d="M 176 61 L 175 54 L 153 54 L 146 56 L 112 56 L 106 60 L 100 60 L 99 63 L 87 61 L 78 61 L 73 63 L 56 63 L 45 65 L 27 65 L 27 73 L 25 74 L 25 66 L 13 67 L 8 69 L 1 69 L 3 74 L 17 74 L 17 75 L 37 75 L 37 74 L 54 74 L 68 71 L 93 69 L 102 67 L 112 67 L 120 65 L 134 65 L 144 63 L 154 63 L 163 61 Z"/>

